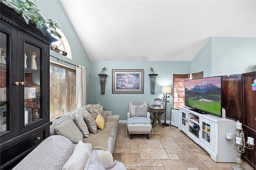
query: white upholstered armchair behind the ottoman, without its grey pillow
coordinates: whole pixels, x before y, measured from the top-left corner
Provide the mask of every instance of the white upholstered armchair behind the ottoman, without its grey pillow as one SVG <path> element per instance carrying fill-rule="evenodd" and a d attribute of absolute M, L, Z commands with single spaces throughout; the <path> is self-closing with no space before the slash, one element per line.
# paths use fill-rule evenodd
<path fill-rule="evenodd" d="M 127 113 L 127 119 L 130 119 L 132 117 L 139 118 L 140 114 L 137 114 L 136 116 L 136 107 L 146 107 L 147 108 L 147 113 L 146 113 L 146 118 L 151 122 L 150 119 L 150 113 L 148 112 L 148 105 L 145 101 L 132 101 L 129 102 L 129 111 Z"/>

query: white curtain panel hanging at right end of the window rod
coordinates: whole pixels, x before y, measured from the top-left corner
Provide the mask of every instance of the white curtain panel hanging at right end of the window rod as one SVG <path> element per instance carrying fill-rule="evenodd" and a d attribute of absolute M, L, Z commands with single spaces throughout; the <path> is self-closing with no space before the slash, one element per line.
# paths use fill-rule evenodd
<path fill-rule="evenodd" d="M 86 105 L 86 68 L 76 66 L 76 108 Z"/>

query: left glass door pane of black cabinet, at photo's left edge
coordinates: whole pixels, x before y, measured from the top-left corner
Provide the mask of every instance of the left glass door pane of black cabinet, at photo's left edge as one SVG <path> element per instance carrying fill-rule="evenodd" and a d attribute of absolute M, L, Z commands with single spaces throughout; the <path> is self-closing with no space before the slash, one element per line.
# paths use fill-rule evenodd
<path fill-rule="evenodd" d="M 8 97 L 7 96 L 7 67 L 6 62 L 8 61 L 8 34 L 1 32 L 1 43 L 0 43 L 0 133 L 6 132 L 10 128 L 10 115 L 7 113 Z"/>

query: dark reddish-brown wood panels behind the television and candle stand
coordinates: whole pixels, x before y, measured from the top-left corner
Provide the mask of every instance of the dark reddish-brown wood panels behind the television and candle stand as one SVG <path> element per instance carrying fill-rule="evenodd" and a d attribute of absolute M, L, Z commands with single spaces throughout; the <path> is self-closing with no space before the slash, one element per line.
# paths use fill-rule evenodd
<path fill-rule="evenodd" d="M 256 71 L 222 76 L 222 107 L 226 117 L 238 119 L 243 124 L 244 137 L 256 140 L 256 91 L 252 84 Z M 242 159 L 256 170 L 256 148 L 245 149 Z"/>

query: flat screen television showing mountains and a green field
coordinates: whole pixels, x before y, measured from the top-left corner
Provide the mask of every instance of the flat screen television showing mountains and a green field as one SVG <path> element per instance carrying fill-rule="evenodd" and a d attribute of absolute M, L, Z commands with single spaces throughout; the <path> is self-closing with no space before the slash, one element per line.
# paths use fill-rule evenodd
<path fill-rule="evenodd" d="M 222 117 L 222 76 L 185 81 L 185 105 L 202 114 Z"/>

